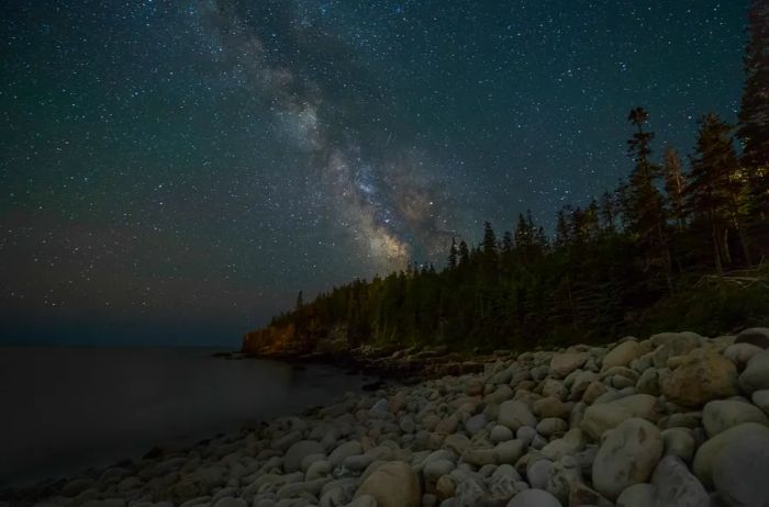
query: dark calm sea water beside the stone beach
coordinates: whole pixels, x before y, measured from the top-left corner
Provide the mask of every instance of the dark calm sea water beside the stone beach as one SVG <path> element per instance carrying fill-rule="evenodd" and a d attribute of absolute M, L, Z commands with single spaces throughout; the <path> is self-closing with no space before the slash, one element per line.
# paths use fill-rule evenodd
<path fill-rule="evenodd" d="M 0 348 L 0 486 L 323 405 L 365 379 L 212 349 Z"/>

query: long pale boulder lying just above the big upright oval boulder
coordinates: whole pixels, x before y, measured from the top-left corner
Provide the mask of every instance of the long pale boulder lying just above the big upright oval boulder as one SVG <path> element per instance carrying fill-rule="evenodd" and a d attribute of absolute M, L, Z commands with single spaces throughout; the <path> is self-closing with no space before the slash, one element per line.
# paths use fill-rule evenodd
<path fill-rule="evenodd" d="M 640 417 L 656 422 L 659 418 L 659 409 L 658 399 L 648 394 L 634 394 L 613 402 L 595 403 L 584 410 L 580 428 L 594 439 L 599 439 L 604 431 L 631 417 Z"/>

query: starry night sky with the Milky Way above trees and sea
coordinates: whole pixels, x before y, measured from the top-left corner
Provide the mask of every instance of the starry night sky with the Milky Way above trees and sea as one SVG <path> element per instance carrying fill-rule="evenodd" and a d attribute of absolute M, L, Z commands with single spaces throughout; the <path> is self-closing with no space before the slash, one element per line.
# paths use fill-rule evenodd
<path fill-rule="evenodd" d="M 734 121 L 747 0 L 52 1 L 3 13 L 0 340 L 230 342 Z"/>

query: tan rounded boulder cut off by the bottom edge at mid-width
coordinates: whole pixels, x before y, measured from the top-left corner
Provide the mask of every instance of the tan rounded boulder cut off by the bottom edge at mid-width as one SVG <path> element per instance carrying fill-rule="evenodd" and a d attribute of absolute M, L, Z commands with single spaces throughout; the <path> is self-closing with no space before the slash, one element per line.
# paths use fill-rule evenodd
<path fill-rule="evenodd" d="M 378 507 L 420 507 L 422 503 L 420 480 L 402 461 L 386 462 L 369 474 L 355 498 L 363 495 L 374 497 Z"/>

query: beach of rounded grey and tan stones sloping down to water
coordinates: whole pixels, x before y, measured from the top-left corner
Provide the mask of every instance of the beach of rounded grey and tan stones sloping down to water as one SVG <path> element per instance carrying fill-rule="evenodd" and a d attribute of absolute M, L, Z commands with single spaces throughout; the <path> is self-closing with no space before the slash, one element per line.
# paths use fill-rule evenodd
<path fill-rule="evenodd" d="M 769 329 L 526 352 L 8 504 L 767 507 Z"/>

